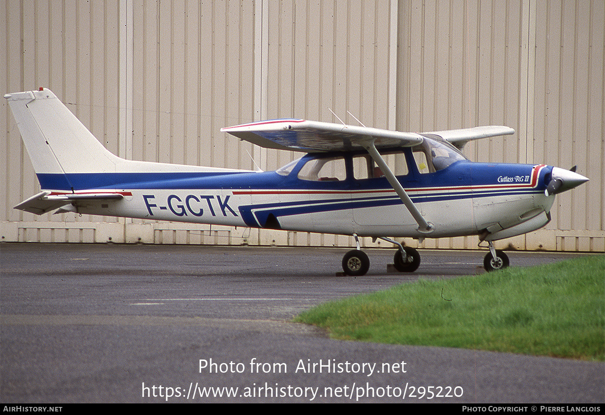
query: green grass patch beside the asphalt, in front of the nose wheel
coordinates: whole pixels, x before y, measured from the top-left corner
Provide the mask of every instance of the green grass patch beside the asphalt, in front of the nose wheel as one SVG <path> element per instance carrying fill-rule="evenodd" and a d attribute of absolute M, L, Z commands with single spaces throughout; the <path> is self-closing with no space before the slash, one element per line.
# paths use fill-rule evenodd
<path fill-rule="evenodd" d="M 295 321 L 333 338 L 605 360 L 605 256 L 333 301 Z"/>

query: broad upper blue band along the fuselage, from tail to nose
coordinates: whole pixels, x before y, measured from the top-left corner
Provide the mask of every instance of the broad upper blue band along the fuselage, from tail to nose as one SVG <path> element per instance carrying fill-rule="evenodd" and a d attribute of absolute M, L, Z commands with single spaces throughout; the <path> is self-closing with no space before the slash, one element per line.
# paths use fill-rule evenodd
<path fill-rule="evenodd" d="M 457 162 L 449 168 L 431 174 L 409 174 L 399 177 L 402 186 L 414 190 L 450 188 L 437 197 L 471 197 L 473 194 L 505 194 L 505 192 L 544 191 L 550 168 L 542 169 L 535 187 L 531 181 L 532 165 L 490 165 L 488 163 Z M 344 181 L 308 181 L 276 172 L 151 172 L 151 173 L 70 173 L 38 174 L 42 189 L 81 191 L 85 189 L 292 189 L 310 191 L 391 191 L 385 178 Z M 521 178 L 520 181 L 517 178 Z M 510 181 L 513 180 L 513 181 Z M 485 188 L 482 188 L 485 186 Z M 355 197 L 355 194 L 353 194 Z M 420 201 L 420 200 L 419 200 Z"/>

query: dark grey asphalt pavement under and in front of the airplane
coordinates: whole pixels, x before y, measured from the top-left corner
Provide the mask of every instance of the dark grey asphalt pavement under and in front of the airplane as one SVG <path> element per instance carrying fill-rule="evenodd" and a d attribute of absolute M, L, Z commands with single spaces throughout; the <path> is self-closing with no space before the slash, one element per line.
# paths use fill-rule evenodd
<path fill-rule="evenodd" d="M 602 403 L 603 362 L 336 341 L 293 316 L 418 278 L 483 273 L 483 251 L 0 244 L 0 402 Z M 511 266 L 581 254 L 509 252 Z"/>

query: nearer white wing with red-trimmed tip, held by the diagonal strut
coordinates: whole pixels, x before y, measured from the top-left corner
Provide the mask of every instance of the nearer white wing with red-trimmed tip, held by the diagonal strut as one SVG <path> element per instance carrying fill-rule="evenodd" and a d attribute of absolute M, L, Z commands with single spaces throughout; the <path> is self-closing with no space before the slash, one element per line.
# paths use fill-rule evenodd
<path fill-rule="evenodd" d="M 221 131 L 261 147 L 304 152 L 361 149 L 368 140 L 373 140 L 378 148 L 422 143 L 422 136 L 415 132 L 307 120 L 253 122 L 221 128 Z"/>

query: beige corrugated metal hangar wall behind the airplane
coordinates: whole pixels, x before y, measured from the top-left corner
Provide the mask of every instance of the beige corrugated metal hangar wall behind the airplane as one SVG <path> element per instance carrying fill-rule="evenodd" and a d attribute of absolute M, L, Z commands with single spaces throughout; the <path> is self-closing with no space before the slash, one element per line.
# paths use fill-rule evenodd
<path fill-rule="evenodd" d="M 288 152 L 223 126 L 300 117 L 400 131 L 508 125 L 473 160 L 578 165 L 519 249 L 605 250 L 603 0 L 4 1 L 4 93 L 48 87 L 125 158 L 275 169 Z M 13 206 L 38 181 L 2 100 L 2 241 L 352 246 L 350 237 Z M 455 212 L 444 212 L 455 214 Z M 365 244 L 371 245 L 370 240 Z M 407 241 L 415 245 L 414 241 Z M 474 248 L 477 238 L 425 240 Z"/>

